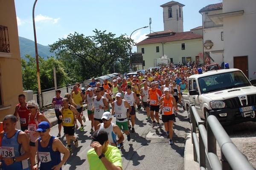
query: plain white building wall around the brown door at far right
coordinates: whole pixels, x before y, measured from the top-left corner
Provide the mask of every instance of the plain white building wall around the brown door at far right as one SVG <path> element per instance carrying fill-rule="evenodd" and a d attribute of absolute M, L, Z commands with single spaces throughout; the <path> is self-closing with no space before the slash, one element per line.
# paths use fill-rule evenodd
<path fill-rule="evenodd" d="M 248 78 L 256 79 L 256 0 L 223 0 L 223 12 L 244 10 L 244 14 L 224 17 L 224 62 L 233 68 L 233 58 L 248 56 Z"/>

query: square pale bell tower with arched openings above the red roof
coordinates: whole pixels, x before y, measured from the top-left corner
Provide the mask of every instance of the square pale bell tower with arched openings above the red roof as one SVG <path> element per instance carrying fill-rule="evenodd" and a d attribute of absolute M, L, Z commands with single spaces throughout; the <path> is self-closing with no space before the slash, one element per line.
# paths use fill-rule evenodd
<path fill-rule="evenodd" d="M 165 31 L 183 32 L 183 6 L 185 5 L 173 0 L 161 5 L 163 8 L 163 27 Z"/>

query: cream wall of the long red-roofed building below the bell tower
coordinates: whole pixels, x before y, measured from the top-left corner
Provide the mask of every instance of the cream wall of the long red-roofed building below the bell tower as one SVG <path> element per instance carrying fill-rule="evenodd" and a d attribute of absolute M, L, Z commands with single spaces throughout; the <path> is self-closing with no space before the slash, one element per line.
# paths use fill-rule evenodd
<path fill-rule="evenodd" d="M 182 43 L 185 43 L 185 50 L 181 49 Z M 159 52 L 156 52 L 156 46 L 159 46 Z M 154 66 L 154 59 L 161 58 L 163 55 L 167 55 L 167 58 L 173 58 L 174 63 L 182 63 L 182 57 L 191 57 L 191 61 L 195 61 L 195 56 L 199 56 L 199 53 L 203 52 L 203 39 L 139 45 L 137 46 L 137 52 L 141 52 L 142 48 L 144 48 L 145 52 L 143 54 L 143 60 L 145 60 L 144 69 L 148 69 Z M 199 60 L 204 63 L 201 58 Z M 139 65 L 139 69 L 142 69 L 142 65 Z"/>

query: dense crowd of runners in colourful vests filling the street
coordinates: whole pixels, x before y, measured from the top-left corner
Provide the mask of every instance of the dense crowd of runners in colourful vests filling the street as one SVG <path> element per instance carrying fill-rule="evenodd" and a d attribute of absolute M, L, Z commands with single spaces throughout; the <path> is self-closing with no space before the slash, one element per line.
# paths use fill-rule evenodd
<path fill-rule="evenodd" d="M 61 169 L 73 150 L 71 143 L 74 142 L 75 148 L 79 146 L 75 129 L 79 128 L 79 133 L 84 133 L 84 103 L 87 104 L 88 119 L 91 121 L 89 133 L 93 141 L 93 150 L 87 153 L 90 169 L 107 166 L 122 168 L 118 149 L 123 147 L 124 135 L 130 141 L 130 133 L 136 131 L 134 125 L 138 110 L 147 113 L 143 121 L 151 119 L 152 128 L 161 128 L 163 122 L 169 144 L 172 145 L 172 127 L 178 114 L 177 104 L 181 104 L 182 92 L 187 89 L 186 79 L 192 74 L 198 74 L 195 66 L 163 66 L 161 69 L 145 70 L 144 74 L 137 72 L 137 75 L 130 77 L 126 73 L 122 77 L 119 73 L 111 82 L 105 79 L 103 84 L 92 78 L 85 94 L 81 92 L 79 83 L 64 98 L 60 96 L 61 91 L 56 90 L 56 96 L 52 98 L 58 119 L 56 137 L 49 134 L 52 125 L 39 112 L 38 104 L 35 101 L 26 102 L 26 96 L 19 95 L 14 115 L 7 115 L 0 124 L 2 168 L 28 170 L 29 158 L 32 170 L 38 167 L 41 170 Z M 116 120 L 115 123 L 112 119 Z M 21 130 L 15 129 L 17 121 L 20 121 Z M 65 135 L 67 144 L 58 139 L 62 134 Z M 108 150 L 112 150 L 111 153 Z M 63 158 L 60 153 L 64 154 Z M 111 158 L 113 153 L 115 159 Z"/>

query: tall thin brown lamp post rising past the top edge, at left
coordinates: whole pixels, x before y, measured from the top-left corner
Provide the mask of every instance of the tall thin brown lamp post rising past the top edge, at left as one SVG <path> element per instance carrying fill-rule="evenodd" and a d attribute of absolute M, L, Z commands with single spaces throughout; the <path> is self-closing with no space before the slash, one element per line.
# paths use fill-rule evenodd
<path fill-rule="evenodd" d="M 33 6 L 33 27 L 34 27 L 34 37 L 35 37 L 35 60 L 36 60 L 36 69 L 37 69 L 37 78 L 38 78 L 38 95 L 39 95 L 39 106 L 42 108 L 42 94 L 41 94 L 41 83 L 40 83 L 40 74 L 39 74 L 39 63 L 38 63 L 38 48 L 37 48 L 37 40 L 36 40 L 36 32 L 35 32 L 35 4 L 37 0 L 35 0 Z"/>

